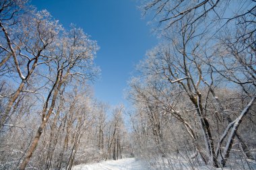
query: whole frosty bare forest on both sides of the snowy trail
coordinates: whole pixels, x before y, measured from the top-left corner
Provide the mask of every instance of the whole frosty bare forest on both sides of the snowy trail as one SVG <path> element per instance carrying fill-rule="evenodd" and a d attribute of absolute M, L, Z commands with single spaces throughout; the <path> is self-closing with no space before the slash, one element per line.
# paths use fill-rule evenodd
<path fill-rule="evenodd" d="M 30 1 L 0 0 L 0 169 L 131 157 L 150 169 L 256 169 L 256 1 L 139 10 L 158 44 L 127 83 L 131 108 L 110 107 L 93 92 L 96 40 Z"/>

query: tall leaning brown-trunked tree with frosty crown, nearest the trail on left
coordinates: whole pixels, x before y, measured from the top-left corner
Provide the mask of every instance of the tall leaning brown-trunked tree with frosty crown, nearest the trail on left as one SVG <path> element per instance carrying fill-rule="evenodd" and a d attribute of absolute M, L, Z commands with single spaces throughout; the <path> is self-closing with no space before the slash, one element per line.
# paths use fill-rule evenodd
<path fill-rule="evenodd" d="M 93 60 L 94 51 L 96 50 L 95 42 L 88 40 L 84 32 L 77 28 L 72 28 L 69 33 L 65 33 L 64 35 L 57 44 L 59 46 L 56 46 L 56 51 L 51 53 L 54 59 L 52 62 L 49 62 L 49 69 L 55 71 L 53 74 L 55 75 L 55 79 L 51 80 L 50 78 L 53 81 L 53 85 L 44 103 L 42 122 L 22 165 L 20 165 L 20 169 L 25 169 L 28 161 L 32 157 L 32 153 L 36 149 L 44 127 L 53 113 L 55 101 L 59 96 L 61 87 L 65 83 L 68 83 L 70 79 L 83 81 L 84 79 L 92 79 L 95 74 L 92 72 L 93 70 L 88 70 Z M 82 69 L 84 73 L 78 72 L 77 69 Z"/>

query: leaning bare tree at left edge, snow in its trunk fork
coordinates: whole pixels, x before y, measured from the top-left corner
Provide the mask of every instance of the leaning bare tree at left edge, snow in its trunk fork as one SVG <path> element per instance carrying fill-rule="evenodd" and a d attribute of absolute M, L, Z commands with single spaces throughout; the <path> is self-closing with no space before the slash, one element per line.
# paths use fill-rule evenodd
<path fill-rule="evenodd" d="M 55 42 L 57 34 L 59 34 L 59 30 L 61 29 L 56 21 L 50 20 L 49 13 L 46 11 L 28 17 L 29 18 L 24 18 L 24 21 L 21 23 L 21 29 L 23 31 L 22 36 L 17 37 L 18 44 L 13 42 L 13 44 L 16 44 L 15 48 L 18 50 L 18 54 L 5 49 L 7 52 L 12 53 L 13 64 L 19 75 L 20 84 L 18 85 L 18 89 L 9 97 L 5 112 L 3 112 L 3 116 L 1 116 L 1 128 L 9 117 L 13 103 L 18 99 L 20 93 L 22 93 L 22 91 L 30 91 L 24 88 L 26 84 L 29 83 L 30 77 L 36 70 L 36 67 L 43 64 L 42 60 L 44 60 L 45 51 Z M 28 20 L 31 21 L 30 24 L 28 24 Z M 10 44 L 10 46 L 12 46 L 12 44 Z M 13 49 L 12 47 L 10 48 Z M 20 63 L 22 63 L 22 65 Z M 24 68 L 24 71 L 21 68 Z"/>

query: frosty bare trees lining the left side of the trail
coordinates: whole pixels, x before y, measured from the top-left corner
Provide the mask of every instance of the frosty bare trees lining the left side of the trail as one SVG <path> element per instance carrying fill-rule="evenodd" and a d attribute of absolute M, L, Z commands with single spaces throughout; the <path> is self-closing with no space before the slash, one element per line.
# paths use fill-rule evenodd
<path fill-rule="evenodd" d="M 123 106 L 109 111 L 88 85 L 96 41 L 24 0 L 0 1 L 0 28 L 0 169 L 129 156 Z"/>

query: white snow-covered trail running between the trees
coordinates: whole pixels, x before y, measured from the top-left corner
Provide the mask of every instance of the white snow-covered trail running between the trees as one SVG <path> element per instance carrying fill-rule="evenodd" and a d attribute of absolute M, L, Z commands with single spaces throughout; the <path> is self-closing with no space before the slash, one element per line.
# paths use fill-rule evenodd
<path fill-rule="evenodd" d="M 72 170 L 148 170 L 149 168 L 135 158 L 120 159 L 117 161 L 104 161 L 90 165 L 77 165 Z"/>

